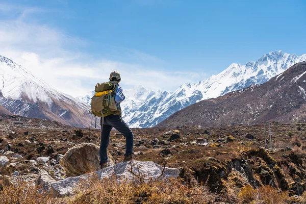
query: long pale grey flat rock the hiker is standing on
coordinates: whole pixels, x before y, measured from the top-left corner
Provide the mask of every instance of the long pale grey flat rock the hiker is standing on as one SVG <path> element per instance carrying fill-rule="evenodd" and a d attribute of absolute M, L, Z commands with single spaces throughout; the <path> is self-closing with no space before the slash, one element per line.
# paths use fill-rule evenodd
<path fill-rule="evenodd" d="M 73 188 L 77 186 L 80 181 L 88 180 L 94 174 L 96 174 L 100 180 L 109 177 L 116 177 L 119 182 L 120 180 L 125 179 L 132 181 L 135 179 L 135 177 L 130 171 L 131 165 L 135 175 L 139 175 L 139 173 L 140 175 L 145 175 L 145 181 L 149 181 L 150 179 L 164 180 L 169 177 L 176 178 L 180 174 L 179 169 L 168 167 L 165 167 L 164 173 L 162 174 L 163 167 L 154 162 L 121 162 L 93 173 L 87 173 L 76 177 L 68 177 L 67 179 L 53 183 L 52 189 L 55 195 L 59 197 L 73 195 Z"/>

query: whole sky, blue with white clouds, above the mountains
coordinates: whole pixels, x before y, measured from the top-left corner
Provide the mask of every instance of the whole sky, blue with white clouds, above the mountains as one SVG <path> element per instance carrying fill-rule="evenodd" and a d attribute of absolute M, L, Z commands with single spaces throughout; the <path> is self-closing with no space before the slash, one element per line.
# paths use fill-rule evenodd
<path fill-rule="evenodd" d="M 126 88 L 167 81 L 173 91 L 273 50 L 306 53 L 305 9 L 302 0 L 0 0 L 0 55 L 69 94 L 63 81 L 83 93 L 111 69 Z"/>

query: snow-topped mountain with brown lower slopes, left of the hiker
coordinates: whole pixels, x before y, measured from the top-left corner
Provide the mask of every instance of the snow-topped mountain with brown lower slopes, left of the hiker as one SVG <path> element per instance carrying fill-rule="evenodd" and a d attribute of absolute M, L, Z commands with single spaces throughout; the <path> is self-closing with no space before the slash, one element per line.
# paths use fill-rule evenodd
<path fill-rule="evenodd" d="M 12 60 L 0 56 L 0 105 L 13 114 L 90 126 L 89 106 L 61 93 Z"/>

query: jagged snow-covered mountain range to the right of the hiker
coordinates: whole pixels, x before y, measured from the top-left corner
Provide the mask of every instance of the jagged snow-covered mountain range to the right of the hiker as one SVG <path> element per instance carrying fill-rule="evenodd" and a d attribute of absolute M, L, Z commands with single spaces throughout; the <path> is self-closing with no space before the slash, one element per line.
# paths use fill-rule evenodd
<path fill-rule="evenodd" d="M 157 91 L 153 95 L 144 95 L 142 100 L 139 100 L 129 92 L 135 94 L 141 93 L 142 90 L 123 89 L 126 95 L 126 99 L 121 103 L 123 119 L 131 127 L 151 127 L 200 100 L 215 98 L 250 85 L 263 84 L 302 61 L 306 61 L 306 54 L 297 56 L 275 51 L 245 65 L 231 64 L 221 73 L 194 85 L 183 84 L 173 93 Z M 146 93 L 148 92 L 146 90 Z"/>

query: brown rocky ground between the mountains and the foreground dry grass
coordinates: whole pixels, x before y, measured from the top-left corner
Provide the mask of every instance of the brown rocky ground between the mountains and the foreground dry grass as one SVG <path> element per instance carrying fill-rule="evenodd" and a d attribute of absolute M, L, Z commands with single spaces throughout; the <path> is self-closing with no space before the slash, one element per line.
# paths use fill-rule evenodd
<path fill-rule="evenodd" d="M 207 185 L 211 192 L 238 194 L 248 184 L 270 185 L 297 197 L 306 190 L 305 124 L 272 123 L 272 149 L 265 149 L 261 124 L 133 132 L 135 160 L 167 162 L 167 167 L 180 169 L 186 183 Z M 98 129 L 0 115 L 0 178 L 37 182 L 44 169 L 55 181 L 64 180 L 66 171 L 59 161 L 67 150 L 82 143 L 99 145 L 99 138 Z M 115 163 L 122 162 L 124 146 L 124 137 L 112 131 L 108 149 Z"/>

